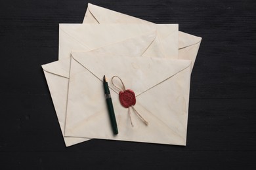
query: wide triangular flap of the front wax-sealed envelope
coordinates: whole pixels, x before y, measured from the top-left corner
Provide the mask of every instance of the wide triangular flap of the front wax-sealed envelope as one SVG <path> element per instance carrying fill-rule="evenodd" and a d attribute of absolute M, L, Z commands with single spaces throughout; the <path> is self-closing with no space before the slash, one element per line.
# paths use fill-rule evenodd
<path fill-rule="evenodd" d="M 118 57 L 79 52 L 72 53 L 72 56 L 100 80 L 104 75 L 109 79 L 112 76 L 119 76 L 125 87 L 133 90 L 135 95 L 146 92 L 146 90 L 179 73 L 191 63 L 190 60 L 182 59 Z M 114 81 L 114 84 L 121 88 L 118 79 Z M 119 90 L 111 82 L 108 85 L 116 93 L 119 93 Z"/>

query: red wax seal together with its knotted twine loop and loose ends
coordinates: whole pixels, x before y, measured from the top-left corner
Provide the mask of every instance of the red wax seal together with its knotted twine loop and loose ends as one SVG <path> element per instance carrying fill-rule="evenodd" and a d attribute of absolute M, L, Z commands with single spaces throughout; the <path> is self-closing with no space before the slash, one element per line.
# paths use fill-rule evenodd
<path fill-rule="evenodd" d="M 121 84 L 122 84 L 121 88 L 118 88 L 114 84 L 114 82 L 113 82 L 114 78 L 118 78 L 121 81 Z M 113 76 L 111 78 L 111 82 L 112 82 L 113 86 L 119 90 L 119 101 L 123 107 L 128 109 L 128 114 L 129 114 L 130 120 L 131 120 L 131 109 L 130 108 L 132 108 L 133 111 L 137 114 L 137 116 L 139 116 L 140 120 L 142 120 L 142 122 L 144 122 L 144 124 L 148 125 L 148 122 L 146 122 L 146 120 L 144 120 L 144 118 L 142 118 L 142 116 L 139 114 L 139 112 L 134 107 L 134 105 L 136 104 L 135 92 L 133 92 L 133 90 L 131 90 L 131 89 L 125 89 L 125 84 L 123 84 L 123 81 L 121 80 L 121 78 L 119 78 L 119 76 Z M 133 126 L 132 120 L 131 120 L 131 126 Z"/>

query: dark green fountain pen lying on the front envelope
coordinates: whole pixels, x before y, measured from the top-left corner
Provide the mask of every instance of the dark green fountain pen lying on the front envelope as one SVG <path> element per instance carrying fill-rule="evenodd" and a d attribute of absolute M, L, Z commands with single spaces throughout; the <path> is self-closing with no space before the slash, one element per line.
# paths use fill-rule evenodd
<path fill-rule="evenodd" d="M 112 130 L 114 135 L 117 135 L 118 129 L 117 129 L 117 123 L 116 123 L 116 116 L 115 116 L 114 107 L 113 107 L 113 103 L 110 95 L 110 89 L 108 88 L 108 82 L 106 81 L 106 76 L 103 77 L 103 86 L 104 86 L 104 92 L 106 97 L 106 103 L 108 106 L 108 114 L 110 115 Z"/>

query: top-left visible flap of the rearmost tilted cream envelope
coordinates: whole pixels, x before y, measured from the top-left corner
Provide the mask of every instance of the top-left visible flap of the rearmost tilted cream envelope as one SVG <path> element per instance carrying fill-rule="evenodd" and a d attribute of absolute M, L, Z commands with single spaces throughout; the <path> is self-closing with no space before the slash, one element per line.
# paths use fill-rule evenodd
<path fill-rule="evenodd" d="M 103 7 L 98 7 L 91 3 L 88 3 L 88 9 L 99 24 L 102 23 L 140 23 L 140 24 L 152 24 L 145 20 L 140 20 L 133 16 L 122 14 L 114 10 L 105 9 Z"/>

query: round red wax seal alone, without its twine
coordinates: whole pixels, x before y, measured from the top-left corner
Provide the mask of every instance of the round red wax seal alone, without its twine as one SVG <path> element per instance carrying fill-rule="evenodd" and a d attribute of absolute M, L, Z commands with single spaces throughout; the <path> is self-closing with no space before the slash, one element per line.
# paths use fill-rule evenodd
<path fill-rule="evenodd" d="M 119 100 L 123 107 L 128 108 L 136 103 L 135 93 L 133 90 L 127 89 L 119 92 Z"/>

